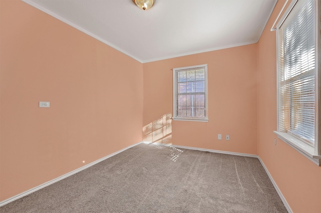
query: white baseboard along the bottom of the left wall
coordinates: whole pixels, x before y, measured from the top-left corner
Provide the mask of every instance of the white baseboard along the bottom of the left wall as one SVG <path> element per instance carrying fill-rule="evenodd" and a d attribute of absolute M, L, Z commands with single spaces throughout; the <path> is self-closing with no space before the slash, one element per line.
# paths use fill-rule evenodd
<path fill-rule="evenodd" d="M 84 166 L 82 166 L 82 167 L 80 167 L 80 168 L 77 168 L 77 169 L 75 169 L 75 170 L 73 170 L 73 171 L 70 171 L 70 172 L 68 172 L 68 173 L 66 173 L 66 174 L 64 174 L 64 175 L 62 175 L 62 176 L 59 176 L 59 177 L 57 177 L 57 178 L 55 178 L 55 179 L 52 179 L 52 180 L 50 180 L 50 181 L 48 181 L 48 182 L 45 182 L 45 183 L 43 183 L 43 184 L 41 184 L 41 185 L 38 185 L 38 186 L 36 186 L 36 187 L 34 187 L 34 188 L 31 188 L 31 189 L 29 189 L 29 190 L 27 190 L 27 191 L 24 191 L 24 192 L 22 192 L 22 193 L 20 193 L 20 194 L 17 194 L 17 195 L 15 195 L 15 196 L 13 196 L 13 197 L 10 197 L 10 198 L 8 198 L 8 199 L 5 199 L 5 200 L 3 200 L 3 201 L 0 202 L 0 207 L 3 206 L 3 205 L 6 205 L 6 204 L 8 204 L 8 203 L 10 203 L 10 202 L 12 202 L 12 201 L 15 201 L 15 200 L 17 200 L 17 199 L 19 199 L 19 198 L 21 198 L 21 197 L 24 197 L 24 196 L 26 196 L 26 195 L 28 195 L 28 194 L 31 194 L 32 192 L 35 192 L 35 191 L 37 191 L 37 190 L 39 190 L 39 189 L 42 189 L 42 188 L 44 188 L 44 187 L 46 187 L 46 186 L 48 186 L 48 185 L 51 185 L 51 184 L 53 184 L 53 183 L 55 183 L 55 182 L 58 182 L 59 180 L 62 180 L 62 179 L 64 179 L 64 178 L 66 178 L 66 177 L 69 177 L 69 176 L 71 176 L 71 175 L 73 175 L 73 174 L 75 174 L 75 173 L 77 173 L 77 172 L 79 172 L 79 171 L 82 171 L 82 170 L 84 170 L 84 169 L 86 169 L 86 168 L 88 168 L 88 167 L 90 167 L 90 166 L 93 166 L 93 165 L 97 164 L 98 162 L 101 162 L 101 161 L 103 161 L 103 160 L 105 160 L 105 159 L 107 159 L 107 158 L 109 158 L 109 157 L 112 157 L 112 156 L 114 156 L 114 155 L 116 155 L 116 154 L 118 154 L 118 153 L 120 153 L 120 152 L 122 152 L 122 151 L 124 151 L 124 150 L 127 150 L 128 148 L 131 148 L 131 147 L 133 147 L 133 146 L 135 146 L 135 145 L 138 145 L 138 144 L 140 144 L 140 143 L 143 143 L 143 141 L 138 142 L 138 143 L 135 143 L 135 144 L 130 145 L 130 146 L 127 146 L 127 147 L 125 147 L 125 148 L 123 148 L 123 149 L 120 149 L 119 151 L 116 151 L 116 152 L 111 153 L 111 154 L 109 154 L 109 155 L 107 155 L 107 156 L 105 156 L 105 157 L 102 157 L 102 158 L 100 158 L 100 159 L 98 159 L 98 160 L 95 160 L 95 161 L 93 161 L 93 162 L 91 162 L 91 163 L 89 163 L 89 164 L 87 164 L 87 165 L 84 165 Z"/>

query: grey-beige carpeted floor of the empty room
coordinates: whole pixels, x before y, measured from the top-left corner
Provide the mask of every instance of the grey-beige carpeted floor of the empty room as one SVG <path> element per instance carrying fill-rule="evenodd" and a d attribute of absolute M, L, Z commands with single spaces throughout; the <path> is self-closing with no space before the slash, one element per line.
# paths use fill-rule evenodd
<path fill-rule="evenodd" d="M 257 158 L 139 144 L 0 212 L 287 212 Z"/>

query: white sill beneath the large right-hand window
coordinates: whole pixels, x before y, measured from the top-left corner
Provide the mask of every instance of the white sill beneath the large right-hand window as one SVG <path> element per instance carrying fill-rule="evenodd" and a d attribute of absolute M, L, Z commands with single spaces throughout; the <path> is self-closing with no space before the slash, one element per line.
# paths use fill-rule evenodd
<path fill-rule="evenodd" d="M 317 165 L 320 165 L 321 155 L 315 153 L 315 150 L 312 146 L 306 144 L 305 142 L 297 139 L 296 137 L 286 133 L 274 131 L 278 138 L 286 142 L 292 148 L 303 154 L 306 158 L 311 160 Z"/>

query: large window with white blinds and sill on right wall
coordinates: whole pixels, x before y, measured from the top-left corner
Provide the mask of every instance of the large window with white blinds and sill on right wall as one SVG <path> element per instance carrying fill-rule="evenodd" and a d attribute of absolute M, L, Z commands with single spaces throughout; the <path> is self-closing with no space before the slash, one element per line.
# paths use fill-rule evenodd
<path fill-rule="evenodd" d="M 316 1 L 293 0 L 277 25 L 279 138 L 320 164 Z"/>

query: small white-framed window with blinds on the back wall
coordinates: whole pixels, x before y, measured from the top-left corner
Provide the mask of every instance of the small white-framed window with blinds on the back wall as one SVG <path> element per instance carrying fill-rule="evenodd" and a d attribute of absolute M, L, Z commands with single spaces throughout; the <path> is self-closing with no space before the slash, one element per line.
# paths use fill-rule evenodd
<path fill-rule="evenodd" d="M 208 121 L 207 64 L 173 69 L 173 119 Z"/>

